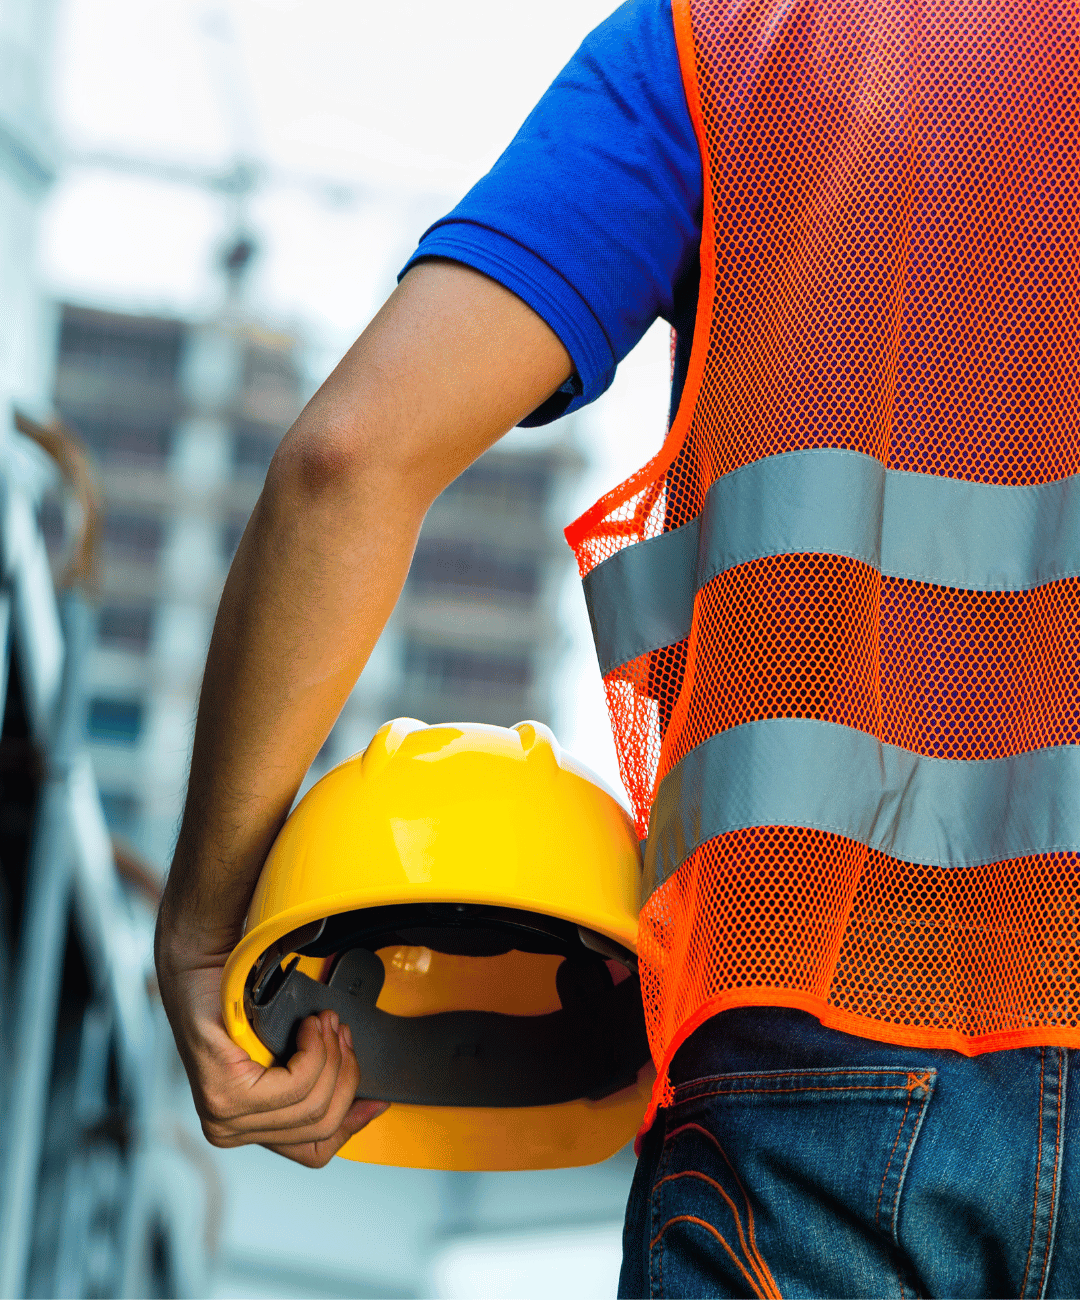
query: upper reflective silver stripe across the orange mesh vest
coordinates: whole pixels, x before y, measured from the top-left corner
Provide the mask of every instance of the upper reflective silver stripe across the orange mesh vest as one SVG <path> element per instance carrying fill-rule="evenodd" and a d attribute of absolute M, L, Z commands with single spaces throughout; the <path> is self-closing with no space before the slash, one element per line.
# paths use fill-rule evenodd
<path fill-rule="evenodd" d="M 1012 592 L 1080 573 L 1080 476 L 1002 488 L 885 471 L 855 451 L 791 451 L 724 474 L 682 528 L 585 578 L 602 672 L 681 641 L 694 594 L 765 555 L 849 555 L 889 577 Z"/>

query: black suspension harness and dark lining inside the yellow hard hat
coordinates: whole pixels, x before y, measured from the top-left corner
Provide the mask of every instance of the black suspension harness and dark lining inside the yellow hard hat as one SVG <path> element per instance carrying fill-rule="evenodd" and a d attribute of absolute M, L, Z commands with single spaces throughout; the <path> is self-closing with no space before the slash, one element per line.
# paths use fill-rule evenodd
<path fill-rule="evenodd" d="M 464 957 L 516 949 L 556 953 L 560 1010 L 545 1015 L 439 1011 L 391 1015 L 376 1006 L 378 949 L 420 946 Z M 282 968 L 289 953 L 334 957 L 322 984 Z M 626 967 L 612 978 L 607 961 Z M 597 1101 L 628 1087 L 649 1060 L 632 952 L 572 922 L 478 904 L 399 904 L 339 913 L 268 948 L 244 984 L 244 1009 L 278 1061 L 295 1050 L 303 1019 L 337 1011 L 352 1032 L 357 1096 L 426 1106 L 545 1106 Z"/>

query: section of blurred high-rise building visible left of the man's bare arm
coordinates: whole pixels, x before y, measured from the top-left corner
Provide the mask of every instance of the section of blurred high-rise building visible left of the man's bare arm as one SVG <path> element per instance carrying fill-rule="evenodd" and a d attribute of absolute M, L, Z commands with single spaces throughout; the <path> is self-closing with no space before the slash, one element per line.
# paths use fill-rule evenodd
<path fill-rule="evenodd" d="M 225 575 L 302 398 L 289 334 L 60 309 L 55 404 L 104 495 L 86 736 L 110 827 L 159 866 Z"/>

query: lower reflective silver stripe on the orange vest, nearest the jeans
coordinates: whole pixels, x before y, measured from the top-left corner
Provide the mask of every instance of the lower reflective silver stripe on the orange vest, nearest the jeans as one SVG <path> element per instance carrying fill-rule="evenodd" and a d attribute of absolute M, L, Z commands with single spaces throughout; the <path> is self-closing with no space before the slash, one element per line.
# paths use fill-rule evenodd
<path fill-rule="evenodd" d="M 1080 852 L 1080 746 L 942 759 L 814 719 L 733 727 L 690 750 L 660 783 L 647 889 L 706 840 L 752 826 L 834 831 L 938 867 Z"/>

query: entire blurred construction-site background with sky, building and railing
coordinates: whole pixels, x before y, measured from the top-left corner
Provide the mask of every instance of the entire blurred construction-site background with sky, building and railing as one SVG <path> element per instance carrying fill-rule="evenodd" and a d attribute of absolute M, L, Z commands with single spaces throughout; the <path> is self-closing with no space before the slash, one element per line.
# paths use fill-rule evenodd
<path fill-rule="evenodd" d="M 611 0 L 0 0 L 0 1295 L 613 1295 L 633 1173 L 302 1170 L 201 1138 L 156 894 L 277 442 Z M 561 526 L 664 432 L 654 328 L 433 507 L 308 783 L 387 718 L 619 783 Z"/>

